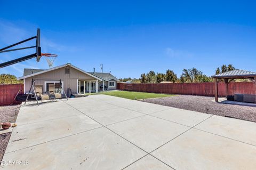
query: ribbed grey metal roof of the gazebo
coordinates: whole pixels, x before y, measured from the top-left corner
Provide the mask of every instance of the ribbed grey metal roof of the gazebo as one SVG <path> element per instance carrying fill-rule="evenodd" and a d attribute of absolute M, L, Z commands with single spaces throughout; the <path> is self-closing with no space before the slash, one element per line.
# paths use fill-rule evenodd
<path fill-rule="evenodd" d="M 213 75 L 213 78 L 242 78 L 242 77 L 254 77 L 256 76 L 256 72 L 246 71 L 246 70 L 231 70 L 227 72 L 222 72 L 218 75 Z"/>

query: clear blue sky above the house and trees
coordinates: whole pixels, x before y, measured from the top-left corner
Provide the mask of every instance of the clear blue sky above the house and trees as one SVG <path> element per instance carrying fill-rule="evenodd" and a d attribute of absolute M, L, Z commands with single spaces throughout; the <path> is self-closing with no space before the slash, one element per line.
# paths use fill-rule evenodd
<path fill-rule="evenodd" d="M 86 71 L 139 78 L 143 72 L 196 67 L 211 76 L 222 64 L 256 71 L 253 1 L 0 1 L 0 47 L 35 36 L 42 52 Z M 31 42 L 34 43 L 34 42 Z M 31 43 L 26 45 L 31 45 Z M 0 53 L 0 62 L 34 53 Z M 0 69 L 48 68 L 45 59 Z"/>

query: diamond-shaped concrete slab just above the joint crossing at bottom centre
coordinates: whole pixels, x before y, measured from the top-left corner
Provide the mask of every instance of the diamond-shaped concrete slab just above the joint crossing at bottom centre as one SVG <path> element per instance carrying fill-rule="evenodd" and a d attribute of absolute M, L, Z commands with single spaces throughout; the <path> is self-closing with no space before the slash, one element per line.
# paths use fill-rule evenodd
<path fill-rule="evenodd" d="M 187 126 L 148 115 L 107 127 L 147 152 L 189 129 Z"/>

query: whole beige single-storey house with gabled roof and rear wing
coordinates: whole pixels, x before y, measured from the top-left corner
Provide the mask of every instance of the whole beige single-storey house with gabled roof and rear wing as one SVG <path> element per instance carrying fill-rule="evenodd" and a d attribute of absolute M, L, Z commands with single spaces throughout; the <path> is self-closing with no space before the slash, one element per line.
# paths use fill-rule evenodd
<path fill-rule="evenodd" d="M 73 66 L 71 63 L 50 69 L 24 69 L 22 77 L 18 80 L 23 80 L 24 93 L 28 93 L 31 87 L 32 79 L 36 85 L 42 85 L 43 91 L 49 91 L 49 85 L 60 85 L 68 94 L 68 88 L 73 94 L 85 94 L 103 90 L 101 85 L 105 85 L 104 90 L 116 90 L 118 79 L 109 73 L 86 72 Z M 57 87 L 56 87 L 57 88 Z M 61 91 L 63 93 L 63 91 Z M 70 93 L 69 93 L 70 94 Z"/>

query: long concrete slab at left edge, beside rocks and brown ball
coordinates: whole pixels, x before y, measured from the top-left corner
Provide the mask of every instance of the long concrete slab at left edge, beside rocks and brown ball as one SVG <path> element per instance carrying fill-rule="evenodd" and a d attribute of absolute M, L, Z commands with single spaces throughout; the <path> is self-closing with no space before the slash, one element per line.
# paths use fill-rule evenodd
<path fill-rule="evenodd" d="M 13 134 L 5 152 L 31 147 L 97 127 L 101 127 L 101 125 L 85 115 L 69 116 L 17 126 L 13 129 Z"/>

